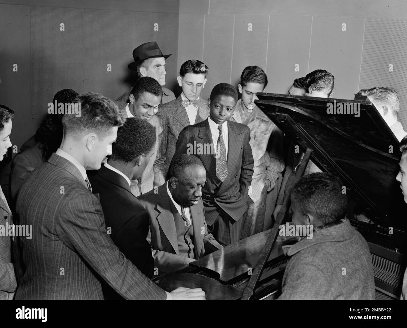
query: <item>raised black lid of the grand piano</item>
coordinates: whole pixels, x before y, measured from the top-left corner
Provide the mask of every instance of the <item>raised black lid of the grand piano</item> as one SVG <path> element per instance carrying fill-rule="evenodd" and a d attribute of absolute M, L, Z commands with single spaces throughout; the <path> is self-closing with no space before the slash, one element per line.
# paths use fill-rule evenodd
<path fill-rule="evenodd" d="M 407 206 L 396 181 L 399 143 L 367 97 L 354 100 L 258 94 L 257 106 L 312 161 L 341 178 L 346 193 L 381 227 L 405 231 Z M 353 103 L 359 115 L 329 114 L 330 106 Z M 349 107 L 348 107 L 349 108 Z"/>

